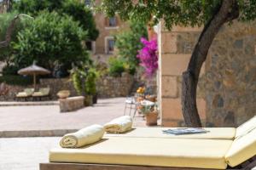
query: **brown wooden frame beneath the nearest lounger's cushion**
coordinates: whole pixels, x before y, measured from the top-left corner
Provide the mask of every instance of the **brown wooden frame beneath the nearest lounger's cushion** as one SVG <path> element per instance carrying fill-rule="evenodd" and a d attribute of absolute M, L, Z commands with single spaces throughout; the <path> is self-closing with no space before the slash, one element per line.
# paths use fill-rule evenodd
<path fill-rule="evenodd" d="M 256 167 L 256 156 L 241 163 L 236 167 L 228 167 L 227 170 L 251 170 Z M 131 165 L 107 165 L 107 164 L 82 164 L 82 163 L 40 163 L 40 170 L 211 170 L 191 167 L 151 167 Z M 213 170 L 213 169 L 212 169 Z"/>

